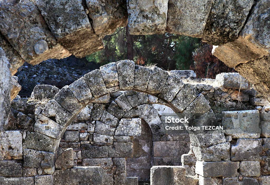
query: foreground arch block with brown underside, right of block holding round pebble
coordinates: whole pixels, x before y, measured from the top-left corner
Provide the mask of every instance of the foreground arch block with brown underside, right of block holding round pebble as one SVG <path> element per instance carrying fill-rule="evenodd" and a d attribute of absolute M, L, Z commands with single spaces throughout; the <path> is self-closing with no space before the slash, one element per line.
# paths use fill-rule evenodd
<path fill-rule="evenodd" d="M 82 58 L 103 47 L 82 2 L 48 0 L 37 1 L 37 6 L 57 41 L 73 55 Z"/>

